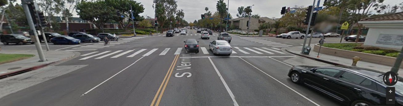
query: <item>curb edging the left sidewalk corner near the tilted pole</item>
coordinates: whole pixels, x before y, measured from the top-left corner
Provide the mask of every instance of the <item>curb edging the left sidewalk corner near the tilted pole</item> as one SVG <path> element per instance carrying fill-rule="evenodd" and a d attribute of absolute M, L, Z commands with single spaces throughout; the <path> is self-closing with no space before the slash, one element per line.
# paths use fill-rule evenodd
<path fill-rule="evenodd" d="M 33 70 L 40 69 L 40 68 L 43 68 L 43 67 L 46 67 L 46 66 L 49 66 L 49 65 L 56 65 L 56 64 L 59 64 L 59 63 L 63 63 L 65 61 L 69 61 L 70 59 L 73 59 L 73 58 L 78 57 L 80 55 L 80 53 L 76 52 L 76 51 L 70 51 L 70 52 L 73 52 L 75 55 L 71 56 L 71 57 L 65 57 L 63 59 L 60 59 L 58 61 L 54 61 L 54 62 L 51 62 L 51 63 L 36 65 L 36 66 L 33 66 L 33 67 L 20 69 L 20 70 L 17 70 L 17 71 L 3 73 L 3 74 L 0 74 L 0 79 L 6 78 L 6 77 L 11 77 L 11 76 L 18 75 L 18 74 L 25 73 L 25 72 L 29 72 L 29 71 L 33 71 Z"/>

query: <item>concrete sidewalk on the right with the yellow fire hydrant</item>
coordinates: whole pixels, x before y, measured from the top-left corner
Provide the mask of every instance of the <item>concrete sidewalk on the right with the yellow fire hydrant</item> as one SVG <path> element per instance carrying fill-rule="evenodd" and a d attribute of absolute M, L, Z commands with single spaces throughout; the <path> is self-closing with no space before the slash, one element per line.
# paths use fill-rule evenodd
<path fill-rule="evenodd" d="M 351 63 L 353 63 L 353 59 L 347 59 L 347 58 L 326 55 L 326 54 L 319 54 L 319 57 L 316 57 L 318 55 L 318 52 L 313 51 L 313 49 L 314 49 L 313 47 L 312 47 L 312 50 L 309 55 L 301 54 L 301 49 L 302 49 L 302 46 L 298 46 L 298 47 L 289 47 L 285 50 L 294 55 L 298 55 L 298 56 L 305 57 L 308 59 L 313 59 L 313 60 L 320 61 L 323 63 L 328 63 L 331 65 L 351 66 Z M 370 62 L 365 62 L 365 61 L 358 61 L 357 67 L 374 69 L 374 70 L 378 70 L 378 71 L 382 71 L 382 72 L 390 71 L 392 68 L 391 66 L 380 65 L 380 64 L 370 63 Z M 399 69 L 398 73 L 399 73 L 399 76 L 403 77 L 403 69 Z"/>

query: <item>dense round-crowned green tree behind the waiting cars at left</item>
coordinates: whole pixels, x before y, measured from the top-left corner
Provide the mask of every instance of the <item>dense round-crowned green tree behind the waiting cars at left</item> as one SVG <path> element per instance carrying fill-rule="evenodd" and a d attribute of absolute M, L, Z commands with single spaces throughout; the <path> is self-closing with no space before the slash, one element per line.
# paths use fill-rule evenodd
<path fill-rule="evenodd" d="M 104 1 L 81 1 L 75 7 L 77 8 L 77 15 L 80 18 L 92 22 L 96 27 L 102 29 L 102 32 L 104 32 L 104 24 L 116 14 L 114 8 L 108 6 Z"/>

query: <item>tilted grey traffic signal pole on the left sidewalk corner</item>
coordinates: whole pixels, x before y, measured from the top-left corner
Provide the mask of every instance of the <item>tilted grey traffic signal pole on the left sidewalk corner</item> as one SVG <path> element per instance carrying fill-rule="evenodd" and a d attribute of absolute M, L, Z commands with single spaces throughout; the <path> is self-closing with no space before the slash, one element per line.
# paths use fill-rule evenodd
<path fill-rule="evenodd" d="M 27 1 L 21 0 L 21 4 L 23 4 L 22 6 L 24 8 L 25 16 L 27 17 L 29 29 L 31 29 L 31 31 L 32 31 L 32 33 L 33 33 L 33 35 L 35 37 L 34 38 L 35 41 L 39 41 L 36 29 L 35 29 L 35 25 L 33 24 L 33 20 L 32 20 L 32 17 L 31 17 L 31 12 L 29 12 Z M 35 44 L 36 50 L 38 51 L 39 62 L 46 61 L 44 51 L 42 51 L 42 46 L 41 46 L 40 41 L 39 41 L 39 43 L 35 42 L 34 44 Z"/>

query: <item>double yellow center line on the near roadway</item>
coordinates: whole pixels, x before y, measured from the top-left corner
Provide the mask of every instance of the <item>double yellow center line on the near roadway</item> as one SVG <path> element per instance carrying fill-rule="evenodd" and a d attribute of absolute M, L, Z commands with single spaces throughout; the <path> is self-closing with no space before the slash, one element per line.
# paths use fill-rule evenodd
<path fill-rule="evenodd" d="M 178 60 L 178 57 L 179 57 L 179 55 L 175 55 L 175 58 L 174 58 L 174 60 L 172 61 L 171 66 L 170 66 L 169 69 L 168 69 L 168 72 L 166 72 L 166 75 L 165 75 L 165 77 L 164 77 L 164 80 L 162 81 L 160 88 L 158 88 L 157 94 L 155 94 L 154 99 L 152 100 L 152 103 L 151 103 L 150 106 L 158 106 L 158 104 L 160 104 L 160 100 L 161 100 L 162 94 L 164 94 L 166 84 L 168 84 L 169 78 L 171 77 L 171 73 L 172 73 L 172 71 L 174 70 L 174 67 L 175 67 L 175 64 L 176 64 L 176 62 L 177 62 L 177 60 Z M 164 84 L 164 82 L 165 82 L 165 84 Z M 164 86 L 164 87 L 162 88 L 162 86 Z M 162 90 L 161 90 L 161 88 L 162 88 Z M 161 92 L 160 92 L 160 91 L 161 91 Z M 160 96 L 158 96 L 158 94 L 159 94 Z M 157 96 L 158 96 L 158 100 L 157 100 L 157 102 L 155 102 Z M 154 105 L 154 102 L 155 102 L 155 105 Z"/>

